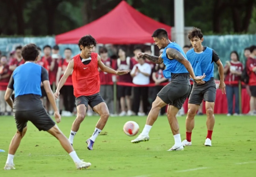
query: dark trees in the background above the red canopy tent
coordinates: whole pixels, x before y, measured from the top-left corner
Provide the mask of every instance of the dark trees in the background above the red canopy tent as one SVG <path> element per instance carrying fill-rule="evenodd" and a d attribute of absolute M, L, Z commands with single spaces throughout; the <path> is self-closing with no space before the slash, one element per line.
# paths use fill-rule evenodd
<path fill-rule="evenodd" d="M 60 34 L 110 12 L 121 0 L 1 0 L 0 34 Z M 143 14 L 174 25 L 174 0 L 126 0 Z M 184 0 L 185 26 L 205 34 L 255 33 L 256 0 Z M 4 18 L 3 18 L 4 17 Z"/>

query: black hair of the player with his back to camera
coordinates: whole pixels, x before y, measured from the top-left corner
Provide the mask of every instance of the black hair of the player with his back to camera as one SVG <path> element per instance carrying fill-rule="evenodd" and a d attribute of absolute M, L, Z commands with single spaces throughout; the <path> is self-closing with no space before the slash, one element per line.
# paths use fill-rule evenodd
<path fill-rule="evenodd" d="M 25 61 L 35 61 L 39 55 L 39 51 L 35 44 L 28 44 L 22 48 L 22 57 Z"/>

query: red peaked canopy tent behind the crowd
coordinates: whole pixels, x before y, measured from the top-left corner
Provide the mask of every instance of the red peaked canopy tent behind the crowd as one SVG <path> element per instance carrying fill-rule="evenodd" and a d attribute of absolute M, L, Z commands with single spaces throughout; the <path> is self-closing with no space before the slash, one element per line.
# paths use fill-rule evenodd
<path fill-rule="evenodd" d="M 171 27 L 138 12 L 127 2 L 120 2 L 111 12 L 99 19 L 56 36 L 57 44 L 77 44 L 91 34 L 99 44 L 154 43 L 151 37 L 157 28 L 164 28 L 171 38 Z"/>

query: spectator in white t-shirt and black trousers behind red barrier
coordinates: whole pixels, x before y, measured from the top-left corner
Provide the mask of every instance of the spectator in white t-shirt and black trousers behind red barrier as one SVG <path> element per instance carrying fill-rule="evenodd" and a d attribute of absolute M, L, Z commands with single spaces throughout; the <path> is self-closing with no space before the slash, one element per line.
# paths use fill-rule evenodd
<path fill-rule="evenodd" d="M 137 85 L 147 85 L 150 83 L 150 75 L 151 75 L 151 66 L 150 64 L 145 62 L 145 58 L 139 58 L 138 64 L 134 65 L 131 71 L 132 83 Z M 134 87 L 133 93 L 133 112 L 136 115 L 145 115 L 147 113 L 148 107 L 148 87 L 147 86 L 136 86 Z M 144 113 L 139 112 L 140 107 L 140 99 L 142 98 L 143 102 L 143 111 Z"/>

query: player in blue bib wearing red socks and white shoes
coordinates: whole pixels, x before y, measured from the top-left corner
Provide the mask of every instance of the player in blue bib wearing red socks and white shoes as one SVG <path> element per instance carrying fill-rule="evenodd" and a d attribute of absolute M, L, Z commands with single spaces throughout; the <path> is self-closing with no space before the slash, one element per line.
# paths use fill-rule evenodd
<path fill-rule="evenodd" d="M 193 49 L 187 52 L 187 59 L 191 63 L 196 76 L 205 73 L 206 77 L 201 81 L 194 80 L 194 85 L 188 100 L 188 113 L 186 119 L 186 140 L 182 142 L 183 146 L 191 146 L 191 134 L 195 126 L 195 115 L 202 100 L 205 101 L 205 110 L 207 114 L 206 125 L 208 133 L 205 146 L 212 146 L 212 132 L 215 123 L 214 102 L 216 98 L 216 84 L 213 78 L 214 63 L 219 70 L 220 83 L 219 88 L 222 94 L 226 94 L 224 83 L 223 65 L 217 53 L 210 47 L 202 46 L 203 34 L 200 29 L 194 28 L 188 34 Z"/>

